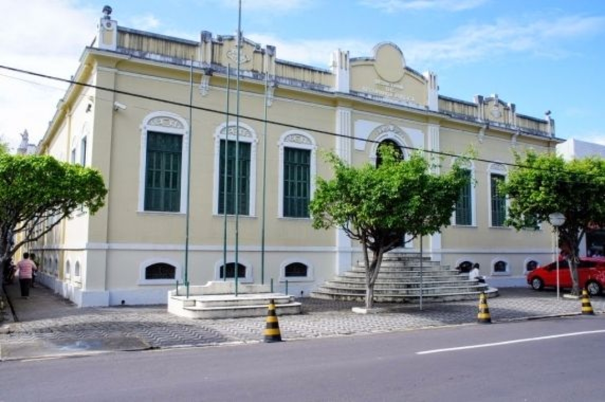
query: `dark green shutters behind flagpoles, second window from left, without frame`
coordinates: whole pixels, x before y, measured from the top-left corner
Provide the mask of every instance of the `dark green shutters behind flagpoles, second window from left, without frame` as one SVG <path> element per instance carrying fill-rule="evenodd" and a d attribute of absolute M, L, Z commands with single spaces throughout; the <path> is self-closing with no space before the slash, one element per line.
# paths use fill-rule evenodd
<path fill-rule="evenodd" d="M 250 214 L 250 143 L 239 142 L 239 208 L 237 213 Z M 227 141 L 227 174 L 225 175 L 225 140 L 221 140 L 218 176 L 218 213 L 225 211 L 225 180 L 227 180 L 227 214 L 235 215 L 235 141 Z"/>

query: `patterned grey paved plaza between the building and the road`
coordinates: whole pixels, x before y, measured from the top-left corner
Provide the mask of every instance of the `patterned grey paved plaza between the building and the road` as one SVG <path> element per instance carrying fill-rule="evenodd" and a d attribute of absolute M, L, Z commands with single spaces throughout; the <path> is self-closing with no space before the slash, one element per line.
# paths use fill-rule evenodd
<path fill-rule="evenodd" d="M 185 346 L 256 343 L 263 340 L 266 318 L 191 320 L 166 311 L 166 306 L 116 306 L 78 308 L 41 286 L 31 289 L 28 299 L 19 296 L 17 284 L 5 286 L 10 308 L 0 322 L 0 358 L 48 357 L 79 352 L 140 350 Z M 478 325 L 479 300 L 381 305 L 379 314 L 356 314 L 356 302 L 332 302 L 299 298 L 303 314 L 279 317 L 284 340 L 365 335 L 408 331 L 450 325 Z M 595 313 L 605 310 L 605 298 L 591 300 Z M 581 313 L 581 301 L 561 297 L 554 291 L 503 288 L 489 298 L 493 324 L 510 320 L 558 317 Z"/>

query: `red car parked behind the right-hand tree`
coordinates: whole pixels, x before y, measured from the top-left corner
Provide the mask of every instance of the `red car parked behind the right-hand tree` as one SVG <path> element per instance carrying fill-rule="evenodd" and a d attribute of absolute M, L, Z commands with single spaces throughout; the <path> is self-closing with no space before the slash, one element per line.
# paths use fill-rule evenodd
<path fill-rule="evenodd" d="M 605 286 L 605 259 L 581 257 L 578 265 L 580 288 L 586 289 L 590 296 L 601 294 Z M 545 287 L 557 286 L 557 263 L 540 266 L 528 273 L 528 285 L 536 291 Z M 567 260 L 559 260 L 559 288 L 571 288 L 571 275 Z"/>

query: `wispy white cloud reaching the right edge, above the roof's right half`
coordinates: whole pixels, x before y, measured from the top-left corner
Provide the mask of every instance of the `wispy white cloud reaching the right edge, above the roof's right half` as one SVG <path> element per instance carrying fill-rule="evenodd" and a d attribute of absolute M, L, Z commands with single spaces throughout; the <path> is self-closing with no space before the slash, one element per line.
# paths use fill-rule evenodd
<path fill-rule="evenodd" d="M 605 28 L 605 18 L 581 15 L 529 22 L 499 19 L 494 24 L 465 25 L 442 41 L 409 41 L 404 53 L 413 64 L 463 64 L 499 56 L 524 53 L 562 58 L 569 53 L 565 43 L 594 35 Z"/>

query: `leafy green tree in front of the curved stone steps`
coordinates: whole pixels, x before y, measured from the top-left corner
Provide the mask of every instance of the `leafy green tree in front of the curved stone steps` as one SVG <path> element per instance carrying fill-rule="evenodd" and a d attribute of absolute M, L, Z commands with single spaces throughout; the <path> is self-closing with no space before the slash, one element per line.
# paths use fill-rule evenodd
<path fill-rule="evenodd" d="M 365 263 L 365 306 L 374 302 L 374 283 L 385 252 L 450 224 L 456 201 L 469 176 L 454 163 L 446 174 L 431 173 L 422 154 L 402 160 L 391 147 L 380 147 L 381 163 L 348 166 L 327 156 L 333 179 L 318 178 L 310 202 L 313 227 L 339 228 L 361 243 Z M 371 257 L 370 257 L 371 254 Z"/>

